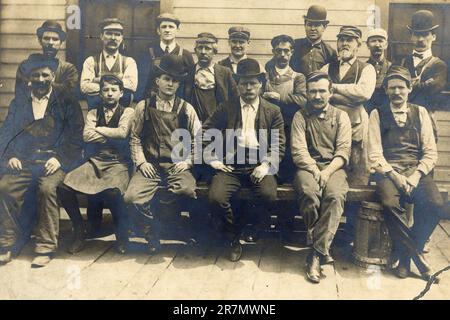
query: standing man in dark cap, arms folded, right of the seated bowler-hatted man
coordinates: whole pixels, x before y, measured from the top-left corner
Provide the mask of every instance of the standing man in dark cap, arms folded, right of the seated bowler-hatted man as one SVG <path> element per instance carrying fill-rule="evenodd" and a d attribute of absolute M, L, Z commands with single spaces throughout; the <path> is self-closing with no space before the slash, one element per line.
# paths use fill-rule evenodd
<path fill-rule="evenodd" d="M 290 152 L 291 124 L 294 114 L 306 104 L 305 76 L 289 66 L 294 52 L 294 40 L 287 35 L 272 39 L 273 58 L 266 64 L 266 84 L 263 98 L 281 109 L 286 134 L 286 153 L 280 164 L 280 178 L 290 181 L 293 177 L 294 163 Z"/>

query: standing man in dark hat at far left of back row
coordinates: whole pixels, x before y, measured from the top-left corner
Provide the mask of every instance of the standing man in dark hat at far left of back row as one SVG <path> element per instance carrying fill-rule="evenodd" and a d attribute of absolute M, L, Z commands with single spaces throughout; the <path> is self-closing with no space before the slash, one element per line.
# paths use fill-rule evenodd
<path fill-rule="evenodd" d="M 66 40 L 66 33 L 61 25 L 53 20 L 45 21 L 42 26 L 36 30 L 39 44 L 42 47 L 42 53 L 58 61 L 58 67 L 55 71 L 55 80 L 53 86 L 61 88 L 67 92 L 73 93 L 78 85 L 77 68 L 64 60 L 57 58 L 63 42 Z M 19 65 L 16 75 L 15 96 L 27 96 L 30 94 L 30 80 L 23 73 L 23 62 Z"/>

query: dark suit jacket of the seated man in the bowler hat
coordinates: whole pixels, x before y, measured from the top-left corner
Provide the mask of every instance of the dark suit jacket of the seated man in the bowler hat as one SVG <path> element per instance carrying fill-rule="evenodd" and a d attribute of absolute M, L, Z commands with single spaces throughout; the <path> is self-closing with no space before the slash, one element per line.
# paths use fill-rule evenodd
<path fill-rule="evenodd" d="M 236 130 L 241 128 L 242 112 L 239 98 L 235 98 L 231 101 L 222 103 L 217 111 L 203 124 L 204 131 L 207 131 L 209 129 L 219 129 L 220 131 L 222 131 L 223 137 L 226 137 L 225 131 L 227 129 Z M 262 156 L 260 155 L 259 162 L 267 161 L 271 165 L 274 163 L 279 164 L 283 159 L 286 144 L 286 136 L 284 134 L 284 121 L 283 116 L 281 115 L 280 108 L 260 97 L 259 108 L 255 119 L 255 129 L 257 131 L 259 144 L 267 146 L 267 153 Z M 265 141 L 261 141 L 259 129 L 266 129 L 268 131 L 267 136 L 265 136 Z M 272 130 L 278 130 L 278 151 L 274 150 L 270 143 L 272 140 Z M 226 151 L 225 146 L 226 144 L 224 144 L 224 155 Z M 234 156 L 235 153 L 236 152 L 234 152 L 232 156 Z M 205 160 L 212 159 L 206 158 Z"/>

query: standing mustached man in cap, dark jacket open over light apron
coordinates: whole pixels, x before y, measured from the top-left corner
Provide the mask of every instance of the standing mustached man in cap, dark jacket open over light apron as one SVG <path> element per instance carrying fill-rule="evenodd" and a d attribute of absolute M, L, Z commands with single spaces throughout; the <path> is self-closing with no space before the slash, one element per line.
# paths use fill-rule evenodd
<path fill-rule="evenodd" d="M 195 41 L 198 62 L 190 70 L 186 80 L 184 98 L 192 104 L 200 121 L 204 122 L 217 106 L 238 96 L 233 72 L 214 63 L 217 54 L 217 38 L 208 32 L 200 33 Z"/>

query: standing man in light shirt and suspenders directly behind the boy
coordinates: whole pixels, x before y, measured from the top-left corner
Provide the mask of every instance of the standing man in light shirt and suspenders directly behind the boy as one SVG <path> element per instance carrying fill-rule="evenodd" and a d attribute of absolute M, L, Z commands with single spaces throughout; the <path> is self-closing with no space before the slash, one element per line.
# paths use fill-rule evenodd
<path fill-rule="evenodd" d="M 123 22 L 108 18 L 99 24 L 102 52 L 84 61 L 80 88 L 86 95 L 89 109 L 101 104 L 100 79 L 104 75 L 115 75 L 122 80 L 124 94 L 120 101 L 124 107 L 130 106 L 138 85 L 136 62 L 120 53 L 123 45 Z"/>

